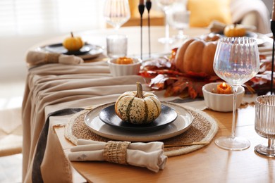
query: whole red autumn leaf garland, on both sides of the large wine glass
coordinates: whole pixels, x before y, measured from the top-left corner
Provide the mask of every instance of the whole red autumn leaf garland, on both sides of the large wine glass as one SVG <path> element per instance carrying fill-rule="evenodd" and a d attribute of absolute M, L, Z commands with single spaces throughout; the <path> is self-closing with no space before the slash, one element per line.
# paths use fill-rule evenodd
<path fill-rule="evenodd" d="M 142 77 L 148 81 L 153 90 L 166 89 L 164 96 L 180 96 L 181 98 L 195 99 L 202 97 L 202 87 L 209 82 L 221 82 L 218 76 L 209 76 L 204 73 L 181 73 L 175 65 L 177 49 L 173 49 L 171 56 L 155 58 L 145 61 L 140 72 Z M 271 62 L 265 56 L 260 56 L 261 67 L 259 73 L 250 81 L 243 84 L 246 92 L 266 94 L 269 91 Z M 274 80 L 275 85 L 275 80 Z"/>

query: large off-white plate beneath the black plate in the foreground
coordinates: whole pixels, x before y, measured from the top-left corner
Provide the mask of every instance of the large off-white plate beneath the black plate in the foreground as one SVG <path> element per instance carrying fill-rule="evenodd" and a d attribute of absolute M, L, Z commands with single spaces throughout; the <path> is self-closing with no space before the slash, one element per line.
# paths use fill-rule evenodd
<path fill-rule="evenodd" d="M 178 113 L 178 118 L 164 129 L 155 132 L 130 132 L 117 130 L 110 125 L 106 125 L 99 119 L 99 112 L 107 106 L 114 103 L 108 103 L 97 108 L 92 109 L 85 116 L 85 125 L 90 128 L 92 132 L 108 139 L 119 141 L 158 141 L 162 139 L 169 139 L 182 134 L 190 128 L 193 122 L 193 115 L 186 111 L 185 108 L 173 103 L 162 102 L 164 105 L 173 108 Z"/>

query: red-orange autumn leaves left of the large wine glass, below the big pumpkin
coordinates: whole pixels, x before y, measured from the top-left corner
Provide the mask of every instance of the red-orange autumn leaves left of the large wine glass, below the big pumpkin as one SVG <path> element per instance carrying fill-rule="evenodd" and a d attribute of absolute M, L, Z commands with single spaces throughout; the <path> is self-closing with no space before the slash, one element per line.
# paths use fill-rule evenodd
<path fill-rule="evenodd" d="M 209 76 L 204 73 L 181 73 L 173 59 L 176 55 L 175 49 L 170 57 L 161 57 L 146 61 L 140 72 L 142 77 L 149 79 L 149 87 L 154 90 L 166 89 L 164 96 L 180 96 L 195 99 L 202 97 L 202 86 L 209 82 L 220 80 L 217 76 Z"/>

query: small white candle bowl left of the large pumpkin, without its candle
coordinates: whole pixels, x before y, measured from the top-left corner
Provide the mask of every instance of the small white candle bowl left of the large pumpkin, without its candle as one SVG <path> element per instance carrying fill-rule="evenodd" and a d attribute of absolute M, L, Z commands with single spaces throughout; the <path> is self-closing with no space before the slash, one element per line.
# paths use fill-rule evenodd
<path fill-rule="evenodd" d="M 140 72 L 140 66 L 142 61 L 138 58 L 133 58 L 133 63 L 130 64 L 118 64 L 116 58 L 108 61 L 111 75 L 123 76 L 123 75 L 138 75 Z"/>

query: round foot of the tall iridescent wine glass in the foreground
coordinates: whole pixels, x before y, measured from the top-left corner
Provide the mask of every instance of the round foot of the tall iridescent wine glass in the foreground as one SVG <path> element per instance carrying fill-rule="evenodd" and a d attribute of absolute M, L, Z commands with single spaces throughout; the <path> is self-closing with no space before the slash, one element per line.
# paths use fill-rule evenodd
<path fill-rule="evenodd" d="M 242 151 L 250 147 L 250 141 L 243 137 L 219 137 L 215 144 L 222 149 Z"/>

